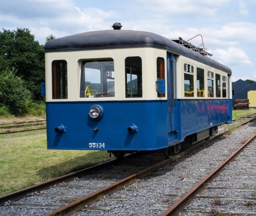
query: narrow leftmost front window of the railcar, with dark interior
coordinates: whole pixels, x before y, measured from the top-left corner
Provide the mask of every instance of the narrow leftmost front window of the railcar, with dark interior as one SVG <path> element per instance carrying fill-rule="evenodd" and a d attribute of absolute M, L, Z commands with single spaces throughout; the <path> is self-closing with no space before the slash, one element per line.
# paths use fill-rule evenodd
<path fill-rule="evenodd" d="M 68 98 L 67 62 L 54 60 L 51 63 L 52 93 L 53 99 Z"/>

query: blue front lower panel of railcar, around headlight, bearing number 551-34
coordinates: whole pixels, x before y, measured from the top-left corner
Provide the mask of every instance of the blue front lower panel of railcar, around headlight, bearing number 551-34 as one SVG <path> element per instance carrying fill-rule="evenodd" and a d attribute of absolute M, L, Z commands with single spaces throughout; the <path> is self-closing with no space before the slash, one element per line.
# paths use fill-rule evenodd
<path fill-rule="evenodd" d="M 103 107 L 104 114 L 93 120 L 92 105 Z M 167 101 L 137 102 L 48 102 L 46 127 L 48 149 L 156 150 L 168 147 Z M 135 125 L 138 132 L 131 133 Z M 63 126 L 65 132 L 55 132 Z M 98 131 L 94 131 L 97 128 Z"/>

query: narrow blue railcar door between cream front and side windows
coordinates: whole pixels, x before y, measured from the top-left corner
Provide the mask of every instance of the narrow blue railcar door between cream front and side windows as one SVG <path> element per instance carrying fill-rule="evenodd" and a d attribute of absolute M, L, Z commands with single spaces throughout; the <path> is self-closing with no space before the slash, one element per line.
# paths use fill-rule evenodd
<path fill-rule="evenodd" d="M 167 54 L 168 103 L 169 103 L 169 138 L 176 138 L 177 123 L 177 82 L 176 56 Z"/>

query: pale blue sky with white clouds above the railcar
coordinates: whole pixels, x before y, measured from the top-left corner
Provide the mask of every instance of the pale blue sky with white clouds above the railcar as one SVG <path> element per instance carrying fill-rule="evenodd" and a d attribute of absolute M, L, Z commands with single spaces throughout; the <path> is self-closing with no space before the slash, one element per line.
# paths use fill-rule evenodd
<path fill-rule="evenodd" d="M 110 30 L 157 33 L 189 40 L 202 35 L 211 58 L 232 70 L 232 81 L 256 81 L 256 0 L 0 0 L 0 31 L 28 28 L 46 37 Z M 202 44 L 201 36 L 190 42 Z"/>

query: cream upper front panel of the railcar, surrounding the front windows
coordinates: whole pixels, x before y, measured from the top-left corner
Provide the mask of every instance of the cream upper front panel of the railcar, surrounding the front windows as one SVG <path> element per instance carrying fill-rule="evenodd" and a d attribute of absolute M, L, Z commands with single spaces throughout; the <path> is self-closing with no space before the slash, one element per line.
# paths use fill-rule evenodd
<path fill-rule="evenodd" d="M 127 57 L 142 59 L 142 98 L 125 98 L 125 59 Z M 98 100 L 162 100 L 156 91 L 157 68 L 156 59 L 162 57 L 166 62 L 166 51 L 156 48 L 126 48 L 104 50 L 82 50 L 50 52 L 45 54 L 46 71 L 46 101 L 98 101 Z M 114 61 L 114 88 L 113 98 L 80 98 L 81 64 L 84 60 L 112 58 Z M 68 78 L 68 98 L 52 99 L 52 62 L 66 60 Z M 165 70 L 165 77 L 166 70 Z"/>

